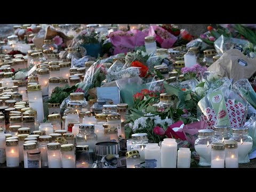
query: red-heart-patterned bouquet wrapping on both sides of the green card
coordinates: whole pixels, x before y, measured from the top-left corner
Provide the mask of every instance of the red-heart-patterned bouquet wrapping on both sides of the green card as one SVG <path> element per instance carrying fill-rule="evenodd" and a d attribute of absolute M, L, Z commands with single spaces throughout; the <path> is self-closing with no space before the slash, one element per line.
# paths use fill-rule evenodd
<path fill-rule="evenodd" d="M 225 104 L 231 128 L 243 126 L 246 119 L 244 118 L 246 107 L 241 102 L 235 103 L 235 100 L 231 99 L 228 99 Z M 217 122 L 217 116 L 215 115 L 214 109 L 207 107 L 205 113 L 201 116 L 201 120 L 207 124 L 207 129 L 213 129 Z"/>

